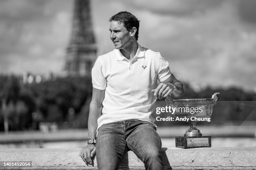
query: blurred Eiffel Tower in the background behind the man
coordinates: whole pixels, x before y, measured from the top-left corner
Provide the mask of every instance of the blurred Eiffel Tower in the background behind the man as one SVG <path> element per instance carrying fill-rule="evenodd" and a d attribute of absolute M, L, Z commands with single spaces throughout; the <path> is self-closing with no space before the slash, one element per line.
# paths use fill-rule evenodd
<path fill-rule="evenodd" d="M 64 70 L 69 76 L 91 76 L 97 47 L 92 30 L 90 0 L 74 0 L 72 32 Z"/>

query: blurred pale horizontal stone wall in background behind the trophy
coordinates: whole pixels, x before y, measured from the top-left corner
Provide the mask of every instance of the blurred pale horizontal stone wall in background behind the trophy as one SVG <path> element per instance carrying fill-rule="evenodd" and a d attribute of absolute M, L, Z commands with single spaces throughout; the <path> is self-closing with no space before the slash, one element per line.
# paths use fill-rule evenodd
<path fill-rule="evenodd" d="M 175 138 L 183 135 L 189 128 L 184 126 L 158 127 L 157 133 L 161 138 Z M 256 126 L 232 126 L 232 125 L 198 125 L 201 133 L 212 138 L 255 138 Z M 225 129 L 225 130 L 223 130 Z M 57 142 L 57 141 L 85 141 L 87 129 L 58 130 L 56 132 L 42 133 L 40 131 L 11 131 L 8 134 L 0 132 L 0 143 L 24 143 L 32 141 Z"/>

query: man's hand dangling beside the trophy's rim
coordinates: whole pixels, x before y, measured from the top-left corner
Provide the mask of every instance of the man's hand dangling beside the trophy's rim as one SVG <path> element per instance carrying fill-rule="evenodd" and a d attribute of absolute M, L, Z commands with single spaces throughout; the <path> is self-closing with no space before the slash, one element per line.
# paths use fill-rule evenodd
<path fill-rule="evenodd" d="M 156 89 L 151 90 L 151 92 L 154 92 L 154 95 L 156 96 L 156 99 L 161 99 L 163 97 L 167 97 L 168 95 L 170 95 L 174 88 L 176 88 L 174 86 L 174 84 L 170 83 L 170 82 L 161 82 Z"/>

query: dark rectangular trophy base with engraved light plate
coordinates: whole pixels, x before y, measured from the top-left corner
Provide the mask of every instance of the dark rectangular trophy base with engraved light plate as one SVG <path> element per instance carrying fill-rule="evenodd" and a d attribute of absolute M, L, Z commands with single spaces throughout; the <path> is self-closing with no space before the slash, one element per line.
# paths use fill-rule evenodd
<path fill-rule="evenodd" d="M 176 148 L 210 148 L 212 146 L 211 136 L 176 136 Z"/>

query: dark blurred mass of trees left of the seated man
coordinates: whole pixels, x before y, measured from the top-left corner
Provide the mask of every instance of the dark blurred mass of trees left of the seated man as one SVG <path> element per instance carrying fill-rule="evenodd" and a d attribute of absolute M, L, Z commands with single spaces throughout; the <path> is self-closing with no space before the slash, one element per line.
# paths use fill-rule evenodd
<path fill-rule="evenodd" d="M 23 84 L 18 77 L 2 75 L 1 106 L 5 99 L 6 110 L 1 108 L 0 130 L 3 130 L 3 113 L 8 117 L 10 130 L 38 128 L 39 122 L 69 122 L 73 127 L 87 126 L 88 109 L 82 108 L 89 108 L 90 102 L 86 100 L 91 93 L 91 79 L 87 77 L 63 77 Z M 74 114 L 69 110 L 74 110 Z M 70 122 L 74 120 L 77 124 Z"/>

